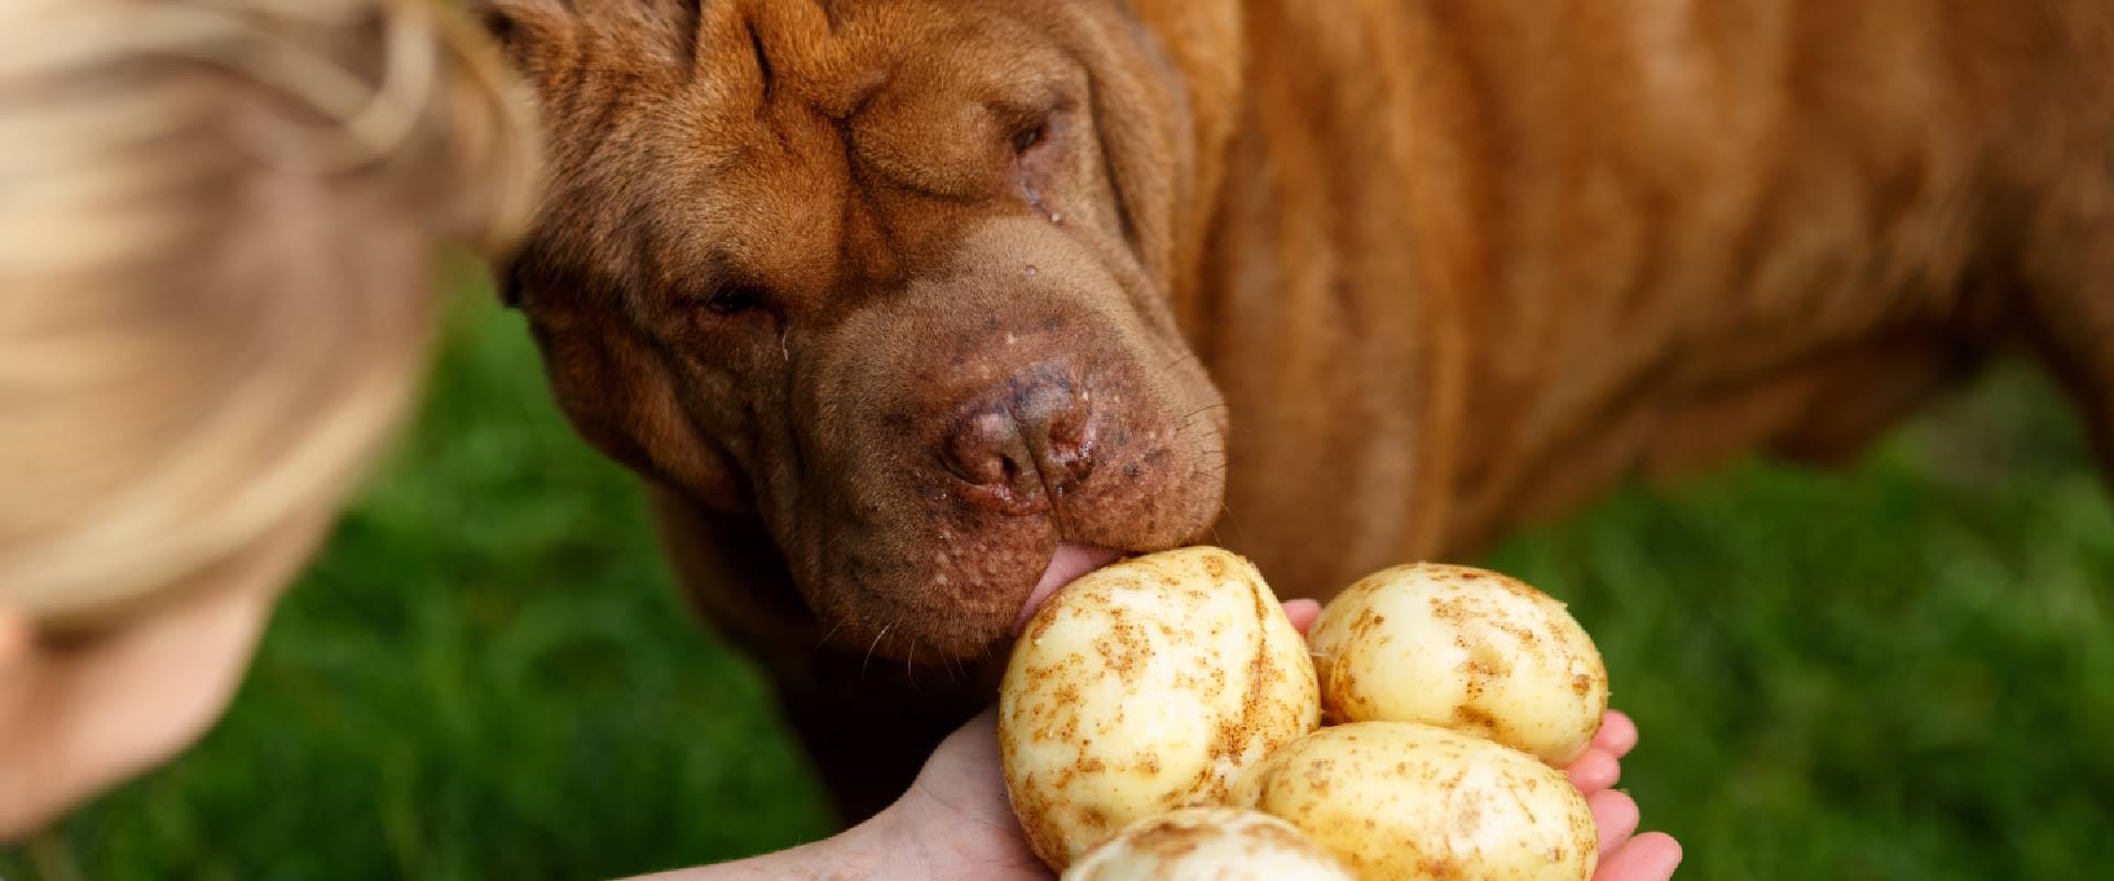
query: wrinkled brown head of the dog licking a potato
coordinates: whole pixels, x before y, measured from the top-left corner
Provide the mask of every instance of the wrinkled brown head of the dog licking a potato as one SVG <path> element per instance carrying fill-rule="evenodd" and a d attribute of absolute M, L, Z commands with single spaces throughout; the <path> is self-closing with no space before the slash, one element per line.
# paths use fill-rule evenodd
<path fill-rule="evenodd" d="M 564 412 L 761 518 L 835 642 L 977 655 L 1059 543 L 1209 530 L 1190 123 L 1116 0 L 486 6 L 552 137 L 507 287 Z"/>

